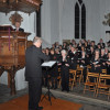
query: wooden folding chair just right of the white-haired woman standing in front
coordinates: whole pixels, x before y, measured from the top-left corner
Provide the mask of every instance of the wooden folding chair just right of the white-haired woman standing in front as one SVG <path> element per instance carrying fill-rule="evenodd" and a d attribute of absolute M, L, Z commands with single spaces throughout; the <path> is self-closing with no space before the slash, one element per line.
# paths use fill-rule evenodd
<path fill-rule="evenodd" d="M 69 86 L 73 90 L 73 87 L 75 86 L 76 82 L 76 70 L 69 69 Z"/>

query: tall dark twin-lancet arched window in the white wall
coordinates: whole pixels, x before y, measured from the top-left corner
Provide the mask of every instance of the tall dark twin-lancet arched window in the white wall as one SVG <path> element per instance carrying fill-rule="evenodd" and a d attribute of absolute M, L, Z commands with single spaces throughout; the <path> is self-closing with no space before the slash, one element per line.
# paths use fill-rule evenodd
<path fill-rule="evenodd" d="M 75 38 L 86 38 L 86 8 L 82 0 L 75 4 Z"/>

